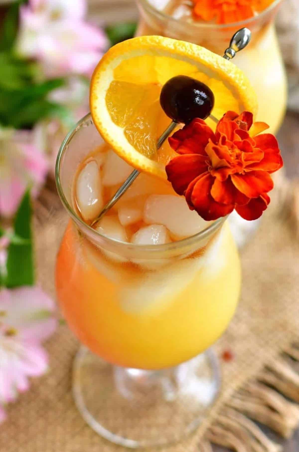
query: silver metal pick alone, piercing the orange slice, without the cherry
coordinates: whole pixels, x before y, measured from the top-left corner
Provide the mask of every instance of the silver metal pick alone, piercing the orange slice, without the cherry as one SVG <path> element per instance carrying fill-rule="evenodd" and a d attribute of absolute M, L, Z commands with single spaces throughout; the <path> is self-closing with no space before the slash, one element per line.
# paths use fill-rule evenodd
<path fill-rule="evenodd" d="M 232 60 L 236 53 L 240 50 L 243 50 L 249 43 L 251 39 L 251 31 L 248 28 L 241 28 L 234 34 L 232 37 L 229 47 L 225 50 L 223 58 L 225 60 Z M 215 118 L 214 115 L 210 114 L 209 118 L 214 121 L 216 124 L 218 123 L 218 119 Z M 175 127 L 177 127 L 178 122 L 172 121 L 167 129 L 162 133 L 161 137 L 157 142 L 157 150 L 163 145 L 164 141 L 169 137 L 169 135 L 173 132 Z M 134 170 L 130 174 L 130 176 L 126 179 L 126 181 L 118 188 L 115 195 L 107 202 L 106 206 L 103 207 L 102 212 L 98 215 L 97 218 L 93 220 L 91 226 L 97 223 L 110 209 L 114 206 L 114 204 L 121 198 L 121 196 L 126 192 L 126 190 L 131 186 L 136 177 L 140 174 L 140 171 Z"/>

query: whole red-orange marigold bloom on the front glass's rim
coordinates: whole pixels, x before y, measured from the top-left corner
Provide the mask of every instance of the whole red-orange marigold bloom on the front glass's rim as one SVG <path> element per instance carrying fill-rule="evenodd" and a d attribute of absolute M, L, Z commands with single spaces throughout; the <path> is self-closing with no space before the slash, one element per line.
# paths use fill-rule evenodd
<path fill-rule="evenodd" d="M 215 133 L 196 118 L 168 138 L 180 154 L 166 165 L 168 180 L 206 221 L 234 209 L 246 220 L 256 220 L 270 202 L 270 174 L 282 167 L 282 158 L 273 135 L 258 135 L 269 126 L 252 124 L 252 118 L 249 112 L 227 112 Z"/>

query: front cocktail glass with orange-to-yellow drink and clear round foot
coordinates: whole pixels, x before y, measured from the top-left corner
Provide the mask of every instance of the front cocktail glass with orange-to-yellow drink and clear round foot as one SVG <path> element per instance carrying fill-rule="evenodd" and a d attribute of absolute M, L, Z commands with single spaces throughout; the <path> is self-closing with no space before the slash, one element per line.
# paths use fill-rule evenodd
<path fill-rule="evenodd" d="M 56 164 L 70 216 L 56 291 L 84 344 L 74 363 L 74 397 L 104 438 L 154 447 L 191 433 L 217 396 L 209 347 L 238 303 L 238 252 L 225 218 L 165 245 L 120 242 L 84 223 L 72 187 L 80 163 L 102 143 L 88 115 L 65 138 Z"/>

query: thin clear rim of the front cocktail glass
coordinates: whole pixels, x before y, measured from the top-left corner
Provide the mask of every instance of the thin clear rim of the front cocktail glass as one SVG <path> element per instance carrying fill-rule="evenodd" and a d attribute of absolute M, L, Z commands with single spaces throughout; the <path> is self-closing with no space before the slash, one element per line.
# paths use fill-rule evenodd
<path fill-rule="evenodd" d="M 75 126 L 70 130 L 70 132 L 66 135 L 65 139 L 62 141 L 62 144 L 60 146 L 60 149 L 58 151 L 57 159 L 56 159 L 56 166 L 55 166 L 55 181 L 56 181 L 56 188 L 59 194 L 59 197 L 61 199 L 61 202 L 63 206 L 65 207 L 66 211 L 70 215 L 70 217 L 76 222 L 79 223 L 84 228 L 87 228 L 89 233 L 93 235 L 93 238 L 101 238 L 104 240 L 107 240 L 111 244 L 114 245 L 121 245 L 123 247 L 130 246 L 130 249 L 132 250 L 142 250 L 142 251 L 150 251 L 150 252 L 158 252 L 158 251 L 168 251 L 168 250 L 177 250 L 179 248 L 182 248 L 184 246 L 193 245 L 198 240 L 203 240 L 209 235 L 211 235 L 213 232 L 217 231 L 217 229 L 224 223 L 224 221 L 227 219 L 226 217 L 220 217 L 217 220 L 215 220 L 210 226 L 207 226 L 202 231 L 198 232 L 195 235 L 191 235 L 190 237 L 187 237 L 182 240 L 178 240 L 176 242 L 166 243 L 164 245 L 137 245 L 130 242 L 123 242 L 121 240 L 112 239 L 111 237 L 108 237 L 107 235 L 100 234 L 98 231 L 93 229 L 91 226 L 89 226 L 87 223 L 85 223 L 82 218 L 77 215 L 75 210 L 72 208 L 70 203 L 65 197 L 65 194 L 63 192 L 62 186 L 61 186 L 61 178 L 60 178 L 60 170 L 61 170 L 61 160 L 65 152 L 67 151 L 67 148 L 73 139 L 75 137 L 76 132 L 81 128 L 81 126 L 87 122 L 92 121 L 93 119 L 91 117 L 90 113 L 87 113 L 83 118 L 81 118 Z"/>

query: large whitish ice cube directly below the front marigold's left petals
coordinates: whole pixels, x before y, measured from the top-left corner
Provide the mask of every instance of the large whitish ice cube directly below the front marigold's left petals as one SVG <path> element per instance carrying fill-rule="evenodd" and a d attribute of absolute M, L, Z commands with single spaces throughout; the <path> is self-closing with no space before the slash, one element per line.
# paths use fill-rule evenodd
<path fill-rule="evenodd" d="M 210 224 L 189 209 L 185 198 L 174 195 L 149 196 L 145 202 L 144 221 L 162 224 L 178 238 L 197 234 Z"/>

